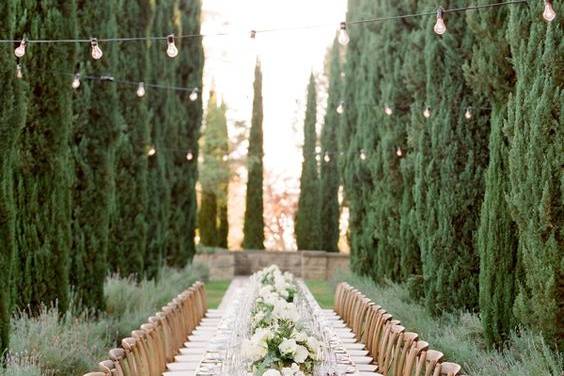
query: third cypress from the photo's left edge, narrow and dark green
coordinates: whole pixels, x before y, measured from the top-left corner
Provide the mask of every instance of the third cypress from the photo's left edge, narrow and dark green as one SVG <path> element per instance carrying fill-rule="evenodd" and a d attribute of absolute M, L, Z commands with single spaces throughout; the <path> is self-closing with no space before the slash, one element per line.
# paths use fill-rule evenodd
<path fill-rule="evenodd" d="M 103 7 L 79 1 L 78 9 L 80 35 L 117 34 L 116 1 L 107 1 Z M 89 48 L 81 49 L 81 71 L 95 76 L 117 72 L 119 47 L 116 43 L 101 44 L 104 56 L 99 61 L 91 58 Z M 65 93 L 69 93 L 68 83 Z M 104 80 L 82 82 L 76 92 L 75 110 L 71 276 L 79 301 L 85 307 L 101 310 L 108 271 L 110 218 L 115 210 L 115 148 L 124 131 L 116 85 Z"/>

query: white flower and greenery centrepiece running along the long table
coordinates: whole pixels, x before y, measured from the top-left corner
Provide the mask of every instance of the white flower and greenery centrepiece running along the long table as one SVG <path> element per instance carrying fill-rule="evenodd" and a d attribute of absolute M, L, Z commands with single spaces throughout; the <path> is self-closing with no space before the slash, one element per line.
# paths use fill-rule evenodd
<path fill-rule="evenodd" d="M 243 356 L 251 362 L 253 374 L 312 375 L 321 347 L 299 323 L 293 276 L 270 266 L 256 277 L 260 288 L 251 312 L 252 336 L 243 344 Z"/>

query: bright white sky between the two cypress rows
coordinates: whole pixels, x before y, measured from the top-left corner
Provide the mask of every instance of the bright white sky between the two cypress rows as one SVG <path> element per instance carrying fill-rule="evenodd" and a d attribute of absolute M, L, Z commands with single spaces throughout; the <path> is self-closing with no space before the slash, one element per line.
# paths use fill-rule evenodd
<path fill-rule="evenodd" d="M 202 34 L 206 64 L 204 100 L 212 83 L 226 103 L 230 136 L 235 122 L 251 123 L 254 67 L 257 57 L 263 71 L 264 168 L 265 181 L 274 189 L 297 195 L 301 173 L 302 127 L 309 75 L 313 72 L 320 87 L 318 119 L 321 126 L 326 78 L 324 60 L 339 23 L 345 19 L 346 0 L 203 0 Z M 323 25 L 305 30 L 257 33 L 251 30 Z M 232 153 L 246 152 L 247 144 Z M 246 171 L 236 171 L 242 184 L 230 187 L 230 247 L 242 239 L 244 183 Z M 293 226 L 287 221 L 287 226 Z M 293 236 L 286 231 L 286 244 Z"/>

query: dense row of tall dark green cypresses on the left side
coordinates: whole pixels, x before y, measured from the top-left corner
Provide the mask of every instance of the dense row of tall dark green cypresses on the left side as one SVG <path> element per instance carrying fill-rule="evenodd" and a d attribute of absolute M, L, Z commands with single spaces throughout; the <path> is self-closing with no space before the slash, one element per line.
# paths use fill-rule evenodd
<path fill-rule="evenodd" d="M 6 39 L 197 34 L 200 1 L 3 1 Z M 118 22 L 119 20 L 119 22 Z M 199 39 L 166 45 L 107 43 L 94 61 L 78 44 L 31 44 L 16 79 L 15 46 L 0 47 L 0 352 L 8 347 L 15 307 L 38 309 L 73 298 L 104 308 L 108 272 L 155 277 L 194 253 L 196 164 L 201 100 L 72 73 L 201 87 Z M 61 74 L 66 73 L 66 74 Z M 68 73 L 71 73 L 70 75 Z M 148 156 L 153 145 L 156 155 Z"/>

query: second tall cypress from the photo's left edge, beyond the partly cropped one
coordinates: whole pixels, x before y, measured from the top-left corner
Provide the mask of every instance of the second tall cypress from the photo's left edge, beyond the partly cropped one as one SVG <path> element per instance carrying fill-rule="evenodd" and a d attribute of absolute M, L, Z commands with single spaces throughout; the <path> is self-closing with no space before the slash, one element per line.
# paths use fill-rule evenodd
<path fill-rule="evenodd" d="M 26 5 L 22 35 L 30 39 L 75 35 L 76 3 L 51 0 Z M 17 239 L 20 274 L 18 302 L 39 307 L 69 303 L 72 167 L 72 45 L 29 46 L 22 58 L 24 78 L 32 94 L 19 142 Z"/>

